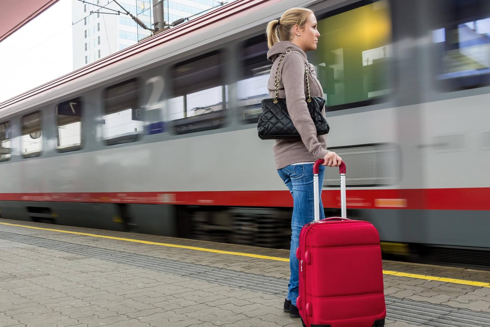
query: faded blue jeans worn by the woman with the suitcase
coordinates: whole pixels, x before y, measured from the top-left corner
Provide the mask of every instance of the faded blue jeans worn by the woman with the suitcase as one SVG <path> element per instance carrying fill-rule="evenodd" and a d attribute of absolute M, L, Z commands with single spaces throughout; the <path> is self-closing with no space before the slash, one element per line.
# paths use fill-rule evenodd
<path fill-rule="evenodd" d="M 299 288 L 299 263 L 296 258 L 296 249 L 299 246 L 299 232 L 301 228 L 315 220 L 315 208 L 313 207 L 313 164 L 290 165 L 278 169 L 277 173 L 282 178 L 289 191 L 293 195 L 293 217 L 291 219 L 291 252 L 289 265 L 291 277 L 288 284 L 287 299 L 296 305 Z M 325 166 L 319 168 L 319 193 L 323 186 L 323 174 Z M 325 218 L 323 205 L 320 199 L 320 219 Z"/>

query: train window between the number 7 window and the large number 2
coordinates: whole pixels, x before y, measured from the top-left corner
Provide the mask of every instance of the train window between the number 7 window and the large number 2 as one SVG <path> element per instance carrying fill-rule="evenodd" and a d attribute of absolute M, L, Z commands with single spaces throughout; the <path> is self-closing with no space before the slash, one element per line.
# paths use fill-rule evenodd
<path fill-rule="evenodd" d="M 106 145 L 136 141 L 143 132 L 139 84 L 133 78 L 105 89 L 102 135 Z"/>

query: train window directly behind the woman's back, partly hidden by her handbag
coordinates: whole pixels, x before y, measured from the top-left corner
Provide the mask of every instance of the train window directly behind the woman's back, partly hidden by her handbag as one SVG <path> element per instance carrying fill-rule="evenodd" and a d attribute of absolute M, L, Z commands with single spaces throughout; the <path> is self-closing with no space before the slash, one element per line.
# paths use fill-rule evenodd
<path fill-rule="evenodd" d="M 246 41 L 242 50 L 243 75 L 237 82 L 237 96 L 246 123 L 258 122 L 261 101 L 269 98 L 267 82 L 272 63 L 267 59 L 268 50 L 267 39 L 262 35 Z"/>

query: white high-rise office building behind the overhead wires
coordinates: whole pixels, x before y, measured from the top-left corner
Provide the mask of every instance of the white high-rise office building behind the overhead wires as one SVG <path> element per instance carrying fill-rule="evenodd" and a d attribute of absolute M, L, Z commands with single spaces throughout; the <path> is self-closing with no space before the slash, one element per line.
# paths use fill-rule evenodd
<path fill-rule="evenodd" d="M 153 1 L 118 0 L 153 28 Z M 163 0 L 166 23 L 198 14 L 219 5 L 216 0 Z M 119 11 L 119 13 L 118 13 Z M 73 70 L 123 50 L 151 34 L 139 26 L 113 0 L 72 0 Z"/>

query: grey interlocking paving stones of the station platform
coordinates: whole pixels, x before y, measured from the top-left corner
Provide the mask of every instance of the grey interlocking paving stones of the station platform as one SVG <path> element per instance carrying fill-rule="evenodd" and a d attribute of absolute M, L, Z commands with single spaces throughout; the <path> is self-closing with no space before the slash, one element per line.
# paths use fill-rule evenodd
<path fill-rule="evenodd" d="M 287 258 L 284 250 L 185 240 L 30 222 L 0 222 L 63 229 Z M 8 232 L 151 258 L 173 260 L 275 278 L 287 284 L 289 263 L 277 260 L 202 252 L 162 245 L 0 225 Z M 489 282 L 490 273 L 461 268 L 385 261 L 384 269 L 426 276 Z M 490 288 L 385 275 L 385 295 L 457 310 L 490 312 Z M 286 291 L 286 290 L 284 290 Z M 299 327 L 282 310 L 284 296 L 164 273 L 101 258 L 53 250 L 0 237 L 1 327 Z M 426 326 L 387 319 L 387 327 Z M 432 326 L 432 325 L 427 325 Z"/>

